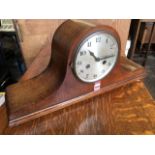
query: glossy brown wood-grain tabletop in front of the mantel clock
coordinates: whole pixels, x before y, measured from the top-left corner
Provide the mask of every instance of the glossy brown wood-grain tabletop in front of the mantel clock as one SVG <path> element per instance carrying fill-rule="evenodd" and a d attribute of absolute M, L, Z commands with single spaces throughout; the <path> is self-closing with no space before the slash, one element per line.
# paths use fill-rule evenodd
<path fill-rule="evenodd" d="M 155 101 L 139 81 L 7 128 L 4 134 L 154 133 Z"/>

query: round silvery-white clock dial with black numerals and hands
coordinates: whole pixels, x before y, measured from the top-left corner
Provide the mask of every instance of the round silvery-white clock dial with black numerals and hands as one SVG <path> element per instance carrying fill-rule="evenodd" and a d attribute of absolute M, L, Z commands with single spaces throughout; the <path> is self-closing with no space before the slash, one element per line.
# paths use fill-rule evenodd
<path fill-rule="evenodd" d="M 104 78 L 115 66 L 118 50 L 117 40 L 111 34 L 100 31 L 89 35 L 76 51 L 76 76 L 83 82 L 95 82 Z"/>

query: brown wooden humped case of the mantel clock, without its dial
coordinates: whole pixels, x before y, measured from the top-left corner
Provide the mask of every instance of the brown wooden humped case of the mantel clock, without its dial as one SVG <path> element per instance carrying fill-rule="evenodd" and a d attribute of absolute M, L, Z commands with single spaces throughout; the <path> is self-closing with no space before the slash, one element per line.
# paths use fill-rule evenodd
<path fill-rule="evenodd" d="M 19 125 L 144 78 L 145 71 L 142 67 L 119 56 L 111 73 L 100 80 L 100 90 L 94 91 L 94 83 L 78 80 L 72 70 L 75 49 L 86 35 L 96 30 L 112 33 L 117 38 L 120 49 L 119 36 L 111 27 L 74 20 L 64 22 L 53 37 L 51 61 L 46 70 L 30 80 L 7 88 L 9 126 Z"/>

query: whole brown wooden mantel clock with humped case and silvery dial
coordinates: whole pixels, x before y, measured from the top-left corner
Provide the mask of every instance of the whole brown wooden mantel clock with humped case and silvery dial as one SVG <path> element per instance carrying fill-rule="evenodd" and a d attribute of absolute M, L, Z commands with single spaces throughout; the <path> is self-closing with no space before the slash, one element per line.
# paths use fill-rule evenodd
<path fill-rule="evenodd" d="M 145 76 L 121 56 L 118 33 L 106 25 L 67 20 L 56 30 L 47 69 L 7 89 L 9 125 L 41 117 Z"/>

